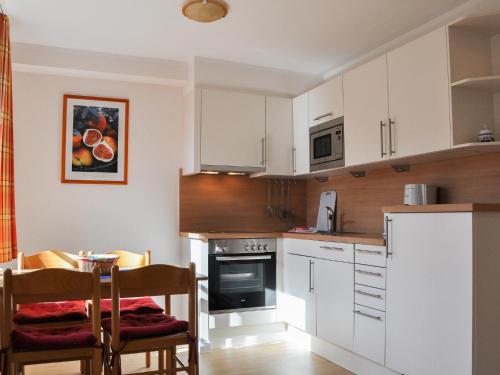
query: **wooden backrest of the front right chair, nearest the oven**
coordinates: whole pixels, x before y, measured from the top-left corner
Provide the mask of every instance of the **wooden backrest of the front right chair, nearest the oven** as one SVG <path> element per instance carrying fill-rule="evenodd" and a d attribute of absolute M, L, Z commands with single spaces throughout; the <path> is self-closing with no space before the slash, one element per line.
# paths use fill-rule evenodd
<path fill-rule="evenodd" d="M 166 264 L 154 264 L 137 269 L 120 271 L 118 266 L 111 270 L 112 299 L 112 345 L 119 347 L 120 297 L 165 296 L 166 311 L 170 310 L 170 296 L 188 294 L 188 323 L 191 335 L 197 335 L 196 323 L 196 265 L 189 268 Z"/>

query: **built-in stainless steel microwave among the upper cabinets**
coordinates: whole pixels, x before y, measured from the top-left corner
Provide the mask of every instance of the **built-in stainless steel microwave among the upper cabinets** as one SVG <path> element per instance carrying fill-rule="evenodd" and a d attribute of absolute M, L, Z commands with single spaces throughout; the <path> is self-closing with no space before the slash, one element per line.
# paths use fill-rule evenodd
<path fill-rule="evenodd" d="M 309 128 L 310 170 L 338 168 L 344 162 L 344 117 Z"/>

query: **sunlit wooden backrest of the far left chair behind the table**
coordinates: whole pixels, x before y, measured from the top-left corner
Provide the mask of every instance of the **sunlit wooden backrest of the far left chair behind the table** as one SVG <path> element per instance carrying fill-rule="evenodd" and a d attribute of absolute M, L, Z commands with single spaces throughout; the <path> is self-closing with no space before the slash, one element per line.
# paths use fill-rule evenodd
<path fill-rule="evenodd" d="M 45 250 L 33 255 L 18 254 L 17 268 L 19 270 L 34 270 L 43 268 L 78 268 L 76 255 L 60 250 Z"/>

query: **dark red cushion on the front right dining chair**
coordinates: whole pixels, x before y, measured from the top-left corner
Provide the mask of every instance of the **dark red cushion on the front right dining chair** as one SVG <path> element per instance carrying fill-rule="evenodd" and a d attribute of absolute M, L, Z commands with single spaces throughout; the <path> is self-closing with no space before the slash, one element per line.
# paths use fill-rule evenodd
<path fill-rule="evenodd" d="M 111 332 L 111 318 L 102 320 L 105 331 Z M 120 339 L 165 336 L 186 332 L 188 322 L 164 314 L 128 314 L 120 317 Z"/>

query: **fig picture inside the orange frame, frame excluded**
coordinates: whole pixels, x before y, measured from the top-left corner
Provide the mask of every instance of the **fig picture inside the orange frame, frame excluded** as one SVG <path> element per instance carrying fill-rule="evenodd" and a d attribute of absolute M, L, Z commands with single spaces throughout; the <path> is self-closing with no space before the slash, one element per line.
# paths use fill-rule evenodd
<path fill-rule="evenodd" d="M 118 116 L 117 108 L 74 106 L 73 172 L 117 172 Z"/>

